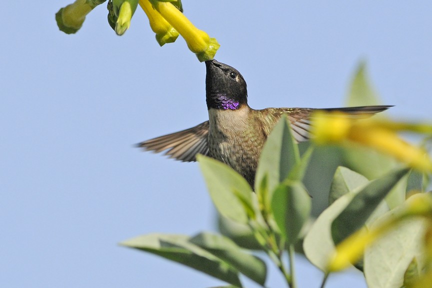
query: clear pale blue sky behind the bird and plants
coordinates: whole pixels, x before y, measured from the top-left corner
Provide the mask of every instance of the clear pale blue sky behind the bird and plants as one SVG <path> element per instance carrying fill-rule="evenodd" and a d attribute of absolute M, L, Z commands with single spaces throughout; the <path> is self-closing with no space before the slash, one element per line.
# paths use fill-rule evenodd
<path fill-rule="evenodd" d="M 183 1 L 254 108 L 341 106 L 364 59 L 390 116 L 431 118 L 431 1 Z M 204 64 L 181 38 L 159 47 L 139 7 L 122 37 L 106 4 L 66 35 L 54 13 L 68 3 L 1 4 L 0 286 L 222 284 L 116 244 L 215 229 L 197 165 L 133 147 L 207 119 Z M 297 278 L 317 287 L 321 274 L 298 257 Z M 353 271 L 328 283 L 365 286 Z"/>

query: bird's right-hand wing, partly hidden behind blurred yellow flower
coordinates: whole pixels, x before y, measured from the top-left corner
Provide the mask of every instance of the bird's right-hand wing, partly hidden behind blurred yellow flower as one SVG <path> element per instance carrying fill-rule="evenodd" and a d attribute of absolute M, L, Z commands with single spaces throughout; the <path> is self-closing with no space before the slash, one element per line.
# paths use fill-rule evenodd
<path fill-rule="evenodd" d="M 354 118 L 366 118 L 371 115 L 384 111 L 392 107 L 391 105 L 380 105 L 380 106 L 358 106 L 358 107 L 343 107 L 343 108 L 324 108 L 324 109 L 312 109 L 312 108 L 286 108 L 285 113 L 288 115 L 288 119 L 291 122 L 291 128 L 293 131 L 294 139 L 297 142 L 307 141 L 310 138 L 310 114 L 313 111 L 326 111 L 326 112 L 343 112 Z M 284 109 L 284 108 L 281 108 Z"/>

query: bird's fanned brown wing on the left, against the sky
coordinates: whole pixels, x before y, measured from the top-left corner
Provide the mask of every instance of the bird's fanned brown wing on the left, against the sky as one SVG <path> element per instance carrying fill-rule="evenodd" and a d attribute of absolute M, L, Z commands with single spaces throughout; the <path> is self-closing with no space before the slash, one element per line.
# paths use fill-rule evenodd
<path fill-rule="evenodd" d="M 183 162 L 196 161 L 195 155 L 208 155 L 208 121 L 192 128 L 163 135 L 138 143 L 138 147 L 155 153 L 167 150 L 165 155 Z"/>

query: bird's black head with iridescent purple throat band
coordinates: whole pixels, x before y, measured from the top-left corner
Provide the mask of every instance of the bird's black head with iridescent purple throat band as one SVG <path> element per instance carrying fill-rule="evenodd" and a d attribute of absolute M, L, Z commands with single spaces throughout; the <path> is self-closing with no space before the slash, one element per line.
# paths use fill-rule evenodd
<path fill-rule="evenodd" d="M 246 81 L 240 72 L 216 60 L 205 61 L 207 108 L 235 110 L 247 105 Z"/>

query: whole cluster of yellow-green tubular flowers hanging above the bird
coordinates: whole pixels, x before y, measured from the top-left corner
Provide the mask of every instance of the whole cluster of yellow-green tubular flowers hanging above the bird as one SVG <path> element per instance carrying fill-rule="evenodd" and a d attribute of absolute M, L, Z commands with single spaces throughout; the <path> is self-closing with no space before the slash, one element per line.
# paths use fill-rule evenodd
<path fill-rule="evenodd" d="M 61 8 L 55 19 L 59 29 L 65 33 L 75 33 L 82 26 L 85 16 L 97 5 L 106 0 L 75 0 Z M 180 11 L 180 0 L 108 0 L 108 23 L 118 35 L 122 35 L 130 26 L 130 20 L 136 6 L 141 6 L 148 17 L 151 29 L 156 33 L 160 46 L 174 42 L 180 34 L 187 47 L 196 54 L 199 61 L 213 59 L 219 48 L 215 38 L 196 28 Z"/>

